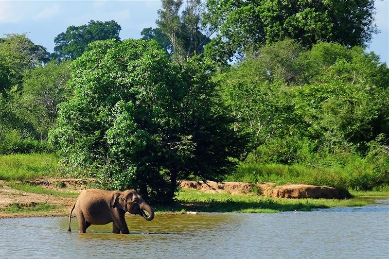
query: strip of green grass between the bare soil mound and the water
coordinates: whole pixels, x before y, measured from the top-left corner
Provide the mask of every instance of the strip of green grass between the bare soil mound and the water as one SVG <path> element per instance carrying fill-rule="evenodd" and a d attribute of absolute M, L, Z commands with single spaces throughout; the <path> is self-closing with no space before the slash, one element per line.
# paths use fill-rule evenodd
<path fill-rule="evenodd" d="M 160 212 L 235 212 L 276 213 L 282 211 L 311 211 L 314 208 L 365 206 L 359 200 L 336 199 L 284 199 L 259 195 L 231 195 L 229 193 L 205 193 L 198 190 L 180 190 L 177 203 L 171 207 L 156 207 Z"/>

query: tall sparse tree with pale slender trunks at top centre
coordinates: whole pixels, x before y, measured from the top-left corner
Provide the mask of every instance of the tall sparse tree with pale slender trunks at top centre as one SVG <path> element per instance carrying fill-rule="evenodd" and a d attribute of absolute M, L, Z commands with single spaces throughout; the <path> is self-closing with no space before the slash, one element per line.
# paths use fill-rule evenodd
<path fill-rule="evenodd" d="M 205 10 L 201 0 L 187 0 L 185 7 L 183 3 L 183 0 L 162 0 L 162 9 L 158 10 L 159 19 L 156 21 L 158 28 L 145 28 L 142 31 L 142 35 L 149 35 L 143 39 L 157 40 L 181 64 L 193 55 L 202 54 L 214 32 L 203 26 Z"/>

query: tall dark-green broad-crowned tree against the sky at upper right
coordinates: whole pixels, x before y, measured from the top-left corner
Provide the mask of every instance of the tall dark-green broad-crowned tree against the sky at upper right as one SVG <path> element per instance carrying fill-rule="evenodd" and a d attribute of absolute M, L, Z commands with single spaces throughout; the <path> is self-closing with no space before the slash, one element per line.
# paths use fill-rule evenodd
<path fill-rule="evenodd" d="M 377 32 L 374 0 L 208 0 L 205 21 L 218 29 L 206 53 L 226 64 L 235 54 L 285 38 L 366 46 Z"/>

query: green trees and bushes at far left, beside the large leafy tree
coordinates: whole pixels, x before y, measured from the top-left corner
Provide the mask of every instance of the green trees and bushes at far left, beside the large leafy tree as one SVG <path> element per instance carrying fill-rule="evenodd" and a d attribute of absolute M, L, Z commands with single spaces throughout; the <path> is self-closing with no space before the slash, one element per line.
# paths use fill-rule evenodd
<path fill-rule="evenodd" d="M 0 39 L 0 154 L 51 151 L 47 132 L 69 95 L 70 71 L 69 63 L 47 61 L 46 49 L 25 35 Z"/>

